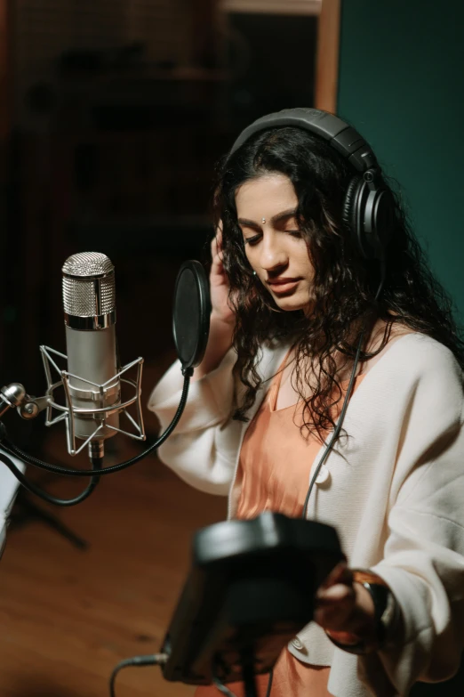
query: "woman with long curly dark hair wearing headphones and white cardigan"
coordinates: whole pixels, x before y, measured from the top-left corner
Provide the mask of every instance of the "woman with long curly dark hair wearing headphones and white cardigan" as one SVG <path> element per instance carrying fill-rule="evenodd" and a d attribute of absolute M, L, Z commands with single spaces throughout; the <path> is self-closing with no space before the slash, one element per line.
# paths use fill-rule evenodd
<path fill-rule="evenodd" d="M 348 563 L 282 653 L 272 697 L 408 694 L 460 664 L 463 345 L 372 150 L 356 164 L 352 138 L 321 137 L 339 119 L 284 113 L 220 169 L 211 334 L 160 457 L 228 495 L 230 517 L 268 509 L 339 532 Z M 176 364 L 151 396 L 163 426 L 181 385 Z"/>

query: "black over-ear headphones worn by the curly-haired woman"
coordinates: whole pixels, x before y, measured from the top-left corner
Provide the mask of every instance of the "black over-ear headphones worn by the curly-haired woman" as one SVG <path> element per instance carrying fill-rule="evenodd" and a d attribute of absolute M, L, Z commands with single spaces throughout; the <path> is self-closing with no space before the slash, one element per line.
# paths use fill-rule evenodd
<path fill-rule="evenodd" d="M 395 219 L 395 202 L 382 181 L 380 166 L 371 146 L 340 118 L 320 109 L 284 109 L 259 118 L 238 136 L 229 157 L 260 131 L 295 126 L 329 142 L 356 169 L 348 185 L 343 221 L 364 259 L 385 259 Z"/>

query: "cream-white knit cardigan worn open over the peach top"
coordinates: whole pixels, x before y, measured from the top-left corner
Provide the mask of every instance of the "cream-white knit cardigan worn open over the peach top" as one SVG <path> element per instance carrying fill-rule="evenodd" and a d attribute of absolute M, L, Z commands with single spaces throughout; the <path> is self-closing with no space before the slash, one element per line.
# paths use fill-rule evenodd
<path fill-rule="evenodd" d="M 276 373 L 288 347 L 263 349 L 260 373 Z M 236 387 L 231 350 L 194 382 L 180 424 L 159 450 L 162 461 L 197 489 L 228 495 L 248 423 L 231 419 Z M 148 407 L 162 428 L 180 401 L 174 363 Z M 268 388 L 262 385 L 249 417 Z M 335 697 L 406 695 L 418 680 L 445 680 L 464 644 L 464 396 L 460 367 L 442 344 L 400 337 L 356 389 L 342 439 L 326 461 L 330 477 L 311 494 L 308 517 L 334 526 L 348 563 L 370 568 L 396 596 L 403 636 L 388 651 L 357 657 L 334 648 L 312 622 L 289 644 L 300 661 L 331 665 Z M 315 463 L 324 448 L 321 448 Z M 314 464 L 315 464 L 314 463 Z M 302 462 L 309 473 L 313 463 Z M 323 477 L 324 479 L 324 477 Z"/>

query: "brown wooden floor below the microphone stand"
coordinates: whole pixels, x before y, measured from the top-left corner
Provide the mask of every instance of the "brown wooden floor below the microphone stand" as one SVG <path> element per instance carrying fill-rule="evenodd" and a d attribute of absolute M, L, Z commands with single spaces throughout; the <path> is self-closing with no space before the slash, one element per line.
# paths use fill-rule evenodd
<path fill-rule="evenodd" d="M 119 447 L 106 466 L 138 449 Z M 63 433 L 47 436 L 55 461 L 63 448 Z M 40 479 L 53 493 L 83 485 Z M 79 550 L 40 522 L 9 531 L 0 563 L 0 695 L 103 697 L 118 661 L 159 650 L 191 535 L 224 519 L 226 501 L 190 489 L 152 456 L 103 478 L 83 504 L 47 510 L 90 547 Z M 117 697 L 192 693 L 156 667 L 125 669 L 116 683 Z"/>

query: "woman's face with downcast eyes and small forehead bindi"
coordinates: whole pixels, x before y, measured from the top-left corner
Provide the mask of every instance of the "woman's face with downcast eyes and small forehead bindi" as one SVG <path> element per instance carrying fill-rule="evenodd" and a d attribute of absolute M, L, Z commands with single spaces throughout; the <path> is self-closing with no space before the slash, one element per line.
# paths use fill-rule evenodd
<path fill-rule="evenodd" d="M 257 277 L 284 311 L 308 310 L 314 268 L 296 220 L 298 198 L 285 174 L 263 174 L 236 190 L 245 254 Z"/>

